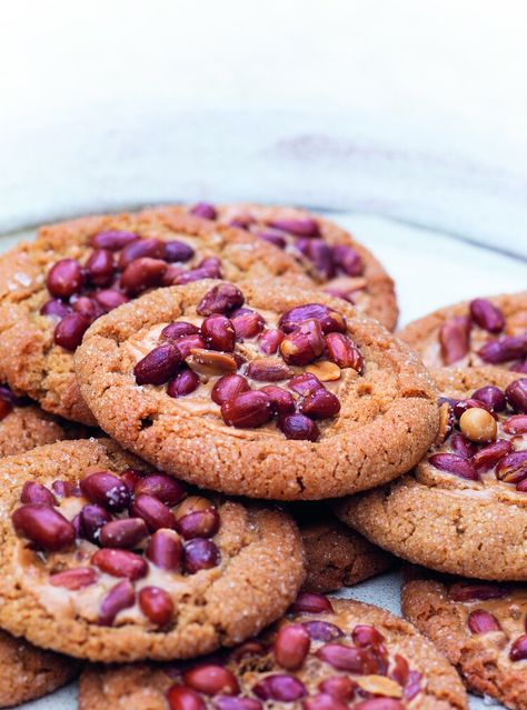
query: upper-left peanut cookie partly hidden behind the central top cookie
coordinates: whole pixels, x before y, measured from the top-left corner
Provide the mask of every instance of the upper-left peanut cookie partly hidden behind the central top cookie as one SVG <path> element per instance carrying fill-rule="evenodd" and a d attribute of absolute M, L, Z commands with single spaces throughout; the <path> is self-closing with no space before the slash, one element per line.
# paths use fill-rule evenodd
<path fill-rule="evenodd" d="M 42 227 L 0 259 L 0 379 L 66 419 L 95 424 L 72 352 L 98 316 L 158 286 L 287 274 L 295 259 L 243 230 L 163 210 Z"/>

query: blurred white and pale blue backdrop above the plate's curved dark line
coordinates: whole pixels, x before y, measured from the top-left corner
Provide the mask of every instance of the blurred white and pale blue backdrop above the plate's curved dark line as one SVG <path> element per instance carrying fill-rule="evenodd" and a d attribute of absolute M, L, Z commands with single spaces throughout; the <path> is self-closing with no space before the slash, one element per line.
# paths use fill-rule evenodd
<path fill-rule="evenodd" d="M 527 253 L 523 2 L 1 8 L 0 230 L 245 199 Z"/>

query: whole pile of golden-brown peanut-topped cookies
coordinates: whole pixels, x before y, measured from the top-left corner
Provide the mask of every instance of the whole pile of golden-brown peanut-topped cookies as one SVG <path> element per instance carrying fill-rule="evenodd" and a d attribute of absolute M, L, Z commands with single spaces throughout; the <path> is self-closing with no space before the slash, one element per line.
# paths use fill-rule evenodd
<path fill-rule="evenodd" d="M 289 208 L 4 254 L 0 707 L 82 670 L 81 710 L 463 709 L 455 663 L 527 708 L 527 593 L 445 576 L 527 578 L 526 317 L 476 299 L 395 337 L 378 261 Z M 434 570 L 404 609 L 440 652 L 324 596 L 394 556 Z"/>

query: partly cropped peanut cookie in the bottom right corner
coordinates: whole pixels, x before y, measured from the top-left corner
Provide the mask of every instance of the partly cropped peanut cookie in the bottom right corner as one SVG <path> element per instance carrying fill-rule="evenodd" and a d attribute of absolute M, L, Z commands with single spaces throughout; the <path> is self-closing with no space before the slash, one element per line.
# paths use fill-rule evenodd
<path fill-rule="evenodd" d="M 422 570 L 404 586 L 402 610 L 470 690 L 527 710 L 525 584 L 436 579 Z"/>

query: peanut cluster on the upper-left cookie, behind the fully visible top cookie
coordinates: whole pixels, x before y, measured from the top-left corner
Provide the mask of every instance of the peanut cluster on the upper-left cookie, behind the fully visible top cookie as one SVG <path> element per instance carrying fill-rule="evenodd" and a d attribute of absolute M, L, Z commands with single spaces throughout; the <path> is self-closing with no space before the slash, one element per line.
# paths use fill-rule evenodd
<path fill-rule="evenodd" d="M 103 313 L 147 289 L 221 277 L 220 260 L 196 258 L 185 241 L 142 238 L 135 232 L 103 231 L 90 238 L 91 253 L 83 264 L 61 259 L 48 272 L 51 296 L 40 312 L 58 319 L 54 342 L 73 351 L 89 326 Z"/>

